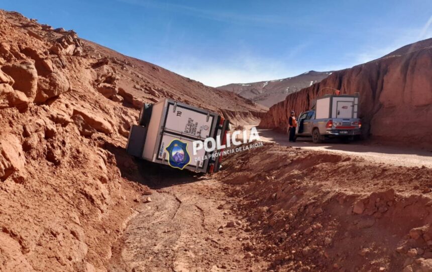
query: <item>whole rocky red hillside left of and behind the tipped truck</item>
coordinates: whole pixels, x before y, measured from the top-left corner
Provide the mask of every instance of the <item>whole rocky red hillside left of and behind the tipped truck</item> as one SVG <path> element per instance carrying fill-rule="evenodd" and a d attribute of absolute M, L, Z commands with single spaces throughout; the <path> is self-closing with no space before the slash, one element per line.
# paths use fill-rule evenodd
<path fill-rule="evenodd" d="M 243 122 L 264 110 L 15 12 L 0 11 L 0 26 L 2 271 L 106 271 L 151 193 L 124 149 L 143 103 L 169 97 Z"/>

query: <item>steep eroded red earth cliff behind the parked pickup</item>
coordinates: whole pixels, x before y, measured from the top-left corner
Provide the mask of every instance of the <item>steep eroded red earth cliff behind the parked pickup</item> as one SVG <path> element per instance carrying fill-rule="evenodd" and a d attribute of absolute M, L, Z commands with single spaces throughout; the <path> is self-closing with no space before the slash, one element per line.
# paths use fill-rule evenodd
<path fill-rule="evenodd" d="M 432 39 L 421 41 L 291 94 L 262 118 L 264 128 L 287 127 L 289 112 L 310 109 L 317 96 L 360 93 L 364 136 L 381 141 L 432 146 Z M 322 90 L 322 91 L 321 91 Z M 319 91 L 319 94 L 318 94 Z"/>

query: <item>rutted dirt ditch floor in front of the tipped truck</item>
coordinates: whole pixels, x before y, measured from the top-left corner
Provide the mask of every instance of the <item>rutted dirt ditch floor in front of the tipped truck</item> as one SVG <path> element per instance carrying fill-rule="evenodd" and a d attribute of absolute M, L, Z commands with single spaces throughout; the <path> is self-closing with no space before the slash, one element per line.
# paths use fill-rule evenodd
<path fill-rule="evenodd" d="M 145 174 L 156 190 L 151 202 L 142 203 L 130 221 L 114 250 L 110 271 L 260 271 L 265 267 L 245 258 L 242 243 L 251 232 L 231 211 L 236 207 L 227 200 L 235 199 L 225 195 L 227 185 L 188 171 L 168 169 L 163 178 L 157 172 Z"/>

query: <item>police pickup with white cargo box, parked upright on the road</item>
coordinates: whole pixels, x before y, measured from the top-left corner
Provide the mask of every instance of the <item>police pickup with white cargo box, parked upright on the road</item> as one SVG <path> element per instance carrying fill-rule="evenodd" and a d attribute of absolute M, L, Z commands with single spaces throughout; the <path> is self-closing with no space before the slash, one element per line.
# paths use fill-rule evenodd
<path fill-rule="evenodd" d="M 314 108 L 300 113 L 295 137 L 312 137 L 314 143 L 326 138 L 354 139 L 361 134 L 358 95 L 326 95 L 316 99 Z"/>

